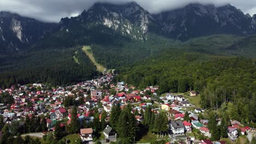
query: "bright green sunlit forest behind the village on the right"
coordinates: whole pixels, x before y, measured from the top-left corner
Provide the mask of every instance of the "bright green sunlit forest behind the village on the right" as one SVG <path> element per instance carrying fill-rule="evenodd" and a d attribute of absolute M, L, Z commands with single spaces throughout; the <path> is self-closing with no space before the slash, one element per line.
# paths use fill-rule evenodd
<path fill-rule="evenodd" d="M 141 88 L 159 85 L 159 94 L 195 90 L 201 94 L 202 108 L 217 110 L 232 103 L 238 115 L 234 118 L 256 122 L 254 59 L 173 53 L 118 71 L 117 81 Z"/>

